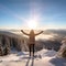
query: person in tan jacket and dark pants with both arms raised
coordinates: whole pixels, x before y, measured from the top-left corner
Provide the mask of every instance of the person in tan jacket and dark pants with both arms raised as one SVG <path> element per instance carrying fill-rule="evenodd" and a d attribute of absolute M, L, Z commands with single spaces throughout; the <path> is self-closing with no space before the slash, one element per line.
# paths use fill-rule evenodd
<path fill-rule="evenodd" d="M 43 31 L 41 31 L 40 33 L 35 34 L 33 30 L 31 30 L 30 34 L 25 33 L 23 30 L 21 30 L 21 32 L 25 35 L 29 36 L 29 50 L 30 50 L 30 56 L 31 56 L 31 52 L 33 52 L 33 56 L 34 56 L 34 44 L 35 44 L 35 36 L 40 35 L 41 33 L 43 33 Z"/>

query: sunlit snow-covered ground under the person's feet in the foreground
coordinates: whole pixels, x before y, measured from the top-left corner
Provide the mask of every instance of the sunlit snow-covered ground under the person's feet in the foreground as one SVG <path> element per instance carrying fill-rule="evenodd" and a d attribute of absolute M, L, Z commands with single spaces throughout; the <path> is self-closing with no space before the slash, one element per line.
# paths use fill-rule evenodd
<path fill-rule="evenodd" d="M 66 66 L 66 59 L 56 57 L 55 51 L 42 50 L 29 57 L 29 52 L 12 53 L 0 57 L 0 66 Z"/>

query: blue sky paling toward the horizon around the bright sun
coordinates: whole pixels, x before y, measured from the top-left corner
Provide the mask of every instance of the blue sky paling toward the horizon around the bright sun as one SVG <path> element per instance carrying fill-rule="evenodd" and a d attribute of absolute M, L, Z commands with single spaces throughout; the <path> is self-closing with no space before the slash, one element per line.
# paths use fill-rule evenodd
<path fill-rule="evenodd" d="M 0 0 L 0 29 L 66 29 L 66 0 Z"/>

